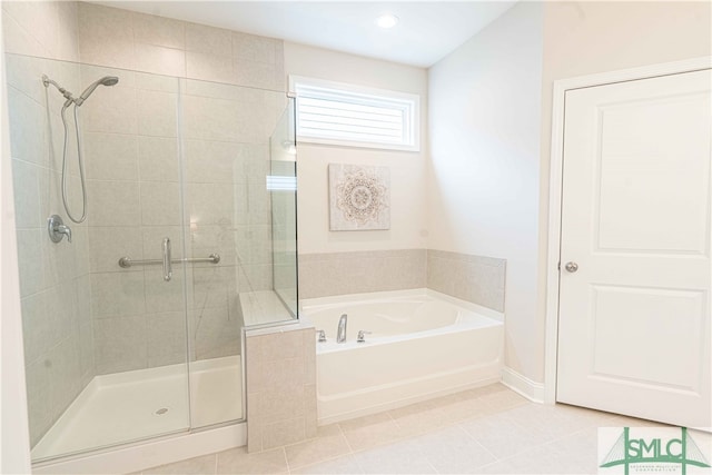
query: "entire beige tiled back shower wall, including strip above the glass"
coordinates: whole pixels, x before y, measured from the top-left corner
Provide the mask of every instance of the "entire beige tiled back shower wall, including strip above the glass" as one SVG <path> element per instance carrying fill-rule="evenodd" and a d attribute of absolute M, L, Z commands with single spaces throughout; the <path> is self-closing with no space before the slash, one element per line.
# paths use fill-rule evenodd
<path fill-rule="evenodd" d="M 90 177 L 92 201 L 108 204 L 109 209 L 122 204 L 132 215 L 125 216 L 125 225 L 134 228 L 115 232 L 111 222 L 91 228 L 92 263 L 97 255 L 106 259 L 103 267 L 92 267 L 97 370 L 184 359 L 182 279 L 188 289 L 191 358 L 238 354 L 238 293 L 271 288 L 264 177 L 269 133 L 284 107 L 281 41 L 90 3 L 79 3 L 78 17 L 82 62 L 188 78 L 180 83 L 178 103 L 178 83 L 166 78 L 136 72 L 131 91 L 132 73 L 126 71 L 96 70 L 82 77 L 87 82 L 105 75 L 126 76 L 112 88 L 116 91 L 102 91 L 102 100 L 87 112 L 86 121 L 96 133 L 87 136 L 87 149 L 97 157 L 107 150 L 106 170 L 113 170 L 111 177 Z M 122 86 L 127 88 L 119 92 Z M 184 164 L 177 160 L 178 127 Z M 117 169 L 128 175 L 117 176 Z M 185 216 L 180 216 L 179 170 L 186 184 Z M 181 221 L 190 226 L 185 236 Z M 127 273 L 116 266 L 123 255 L 160 257 L 162 237 L 171 238 L 177 255 L 185 239 L 188 257 L 218 253 L 221 261 L 190 265 L 185 275 L 178 267 L 172 286 L 162 281 L 159 268 Z M 107 295 L 111 296 L 108 309 Z M 117 315 L 117 308 L 127 309 Z"/>

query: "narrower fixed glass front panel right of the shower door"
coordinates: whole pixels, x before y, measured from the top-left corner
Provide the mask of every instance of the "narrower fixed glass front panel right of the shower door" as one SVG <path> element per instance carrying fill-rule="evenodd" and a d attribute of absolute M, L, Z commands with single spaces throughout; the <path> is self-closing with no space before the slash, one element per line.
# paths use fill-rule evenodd
<path fill-rule="evenodd" d="M 284 92 L 181 80 L 191 427 L 244 418 L 243 327 L 290 318 L 274 291 L 270 135 Z"/>

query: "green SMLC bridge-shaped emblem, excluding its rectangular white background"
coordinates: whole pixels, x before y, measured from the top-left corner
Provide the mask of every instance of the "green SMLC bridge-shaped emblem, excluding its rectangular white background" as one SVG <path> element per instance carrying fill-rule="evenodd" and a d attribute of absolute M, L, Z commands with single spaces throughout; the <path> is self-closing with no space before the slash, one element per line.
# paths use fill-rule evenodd
<path fill-rule="evenodd" d="M 642 432 L 643 429 L 637 431 Z M 680 431 L 680 437 L 676 434 L 672 437 L 662 437 L 659 433 L 649 437 L 632 437 L 630 427 L 624 427 L 623 433 L 603 458 L 600 467 L 609 468 L 622 465 L 625 475 L 629 475 L 631 466 L 634 466 L 636 472 L 659 473 L 670 472 L 673 468 L 668 466 L 665 469 L 661 464 L 676 464 L 683 475 L 686 475 L 690 465 L 710 467 L 702 451 L 688 433 L 688 428 L 681 427 Z"/>

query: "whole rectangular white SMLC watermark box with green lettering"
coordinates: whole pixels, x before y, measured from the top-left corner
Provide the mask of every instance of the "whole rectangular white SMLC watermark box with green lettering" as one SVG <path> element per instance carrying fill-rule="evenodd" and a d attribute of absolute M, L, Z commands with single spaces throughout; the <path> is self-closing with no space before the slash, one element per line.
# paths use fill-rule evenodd
<path fill-rule="evenodd" d="M 600 474 L 712 474 L 709 456 L 685 427 L 599 428 Z"/>

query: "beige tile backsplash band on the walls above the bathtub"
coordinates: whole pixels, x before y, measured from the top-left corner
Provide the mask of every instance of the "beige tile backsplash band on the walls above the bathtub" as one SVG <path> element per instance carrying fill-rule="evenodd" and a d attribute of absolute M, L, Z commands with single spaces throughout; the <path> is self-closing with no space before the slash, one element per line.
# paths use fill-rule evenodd
<path fill-rule="evenodd" d="M 299 297 L 429 288 L 504 311 L 506 260 L 434 249 L 299 255 Z"/>

